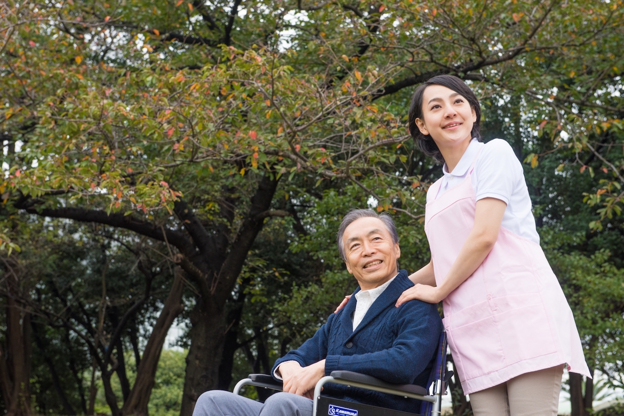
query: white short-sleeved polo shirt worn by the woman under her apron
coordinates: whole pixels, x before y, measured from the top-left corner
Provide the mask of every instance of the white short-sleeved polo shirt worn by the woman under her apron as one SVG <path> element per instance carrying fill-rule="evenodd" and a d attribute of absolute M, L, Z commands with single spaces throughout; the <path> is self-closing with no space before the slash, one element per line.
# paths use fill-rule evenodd
<path fill-rule="evenodd" d="M 487 143 L 480 143 L 473 138 L 453 172 L 448 172 L 444 163 L 442 167 L 444 177 L 439 191 L 437 195 L 432 195 L 432 188 L 429 188 L 427 202 L 435 200 L 447 190 L 462 183 L 480 149 L 481 153 L 470 175 L 477 201 L 483 198 L 504 201 L 507 208 L 501 226 L 515 235 L 539 244 L 540 236 L 535 229 L 535 217 L 522 164 L 509 143 L 500 138 Z"/>

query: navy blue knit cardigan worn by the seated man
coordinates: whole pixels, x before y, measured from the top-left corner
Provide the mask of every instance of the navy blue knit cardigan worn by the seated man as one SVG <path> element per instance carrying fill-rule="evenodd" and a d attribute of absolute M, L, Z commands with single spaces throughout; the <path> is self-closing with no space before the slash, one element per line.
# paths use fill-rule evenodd
<path fill-rule="evenodd" d="M 400 307 L 394 306 L 401 293 L 411 286 L 414 284 L 407 278 L 407 271 L 401 270 L 371 305 L 355 331 L 351 317 L 357 300 L 351 296 L 346 306 L 331 314 L 313 337 L 278 359 L 271 374 L 275 374 L 282 362 L 295 360 L 306 367 L 325 359 L 326 375 L 334 370 L 348 370 L 391 383 L 429 387 L 427 381 L 442 321 L 435 304 L 409 301 Z M 339 384 L 326 384 L 323 395 L 404 412 L 420 409 L 420 400 Z"/>

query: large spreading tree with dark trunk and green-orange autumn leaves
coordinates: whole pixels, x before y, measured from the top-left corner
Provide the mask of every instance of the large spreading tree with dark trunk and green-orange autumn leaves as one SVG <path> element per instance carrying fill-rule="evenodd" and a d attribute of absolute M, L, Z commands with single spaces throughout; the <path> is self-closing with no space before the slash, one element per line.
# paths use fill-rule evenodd
<path fill-rule="evenodd" d="M 183 415 L 219 384 L 227 299 L 255 239 L 271 218 L 314 210 L 279 208 L 288 183 L 355 185 L 410 226 L 422 219 L 436 168 L 404 129 L 422 80 L 459 75 L 555 146 L 613 157 L 587 132 L 619 128 L 620 2 L 8 4 L 7 215 L 96 222 L 171 249 L 197 291 Z"/>

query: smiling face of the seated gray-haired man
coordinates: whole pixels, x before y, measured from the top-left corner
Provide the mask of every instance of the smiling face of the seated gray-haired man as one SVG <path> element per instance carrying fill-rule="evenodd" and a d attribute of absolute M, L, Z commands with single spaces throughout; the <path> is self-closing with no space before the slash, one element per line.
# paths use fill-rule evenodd
<path fill-rule="evenodd" d="M 396 275 L 401 249 L 392 243 L 392 236 L 379 218 L 353 221 L 344 230 L 343 244 L 344 263 L 362 290 L 377 288 Z"/>

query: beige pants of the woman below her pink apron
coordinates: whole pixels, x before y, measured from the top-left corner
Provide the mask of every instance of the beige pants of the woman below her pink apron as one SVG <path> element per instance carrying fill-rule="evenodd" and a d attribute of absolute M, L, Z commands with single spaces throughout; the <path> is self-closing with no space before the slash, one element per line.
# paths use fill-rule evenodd
<path fill-rule="evenodd" d="M 471 393 L 475 416 L 557 416 L 563 365 L 519 375 Z"/>

